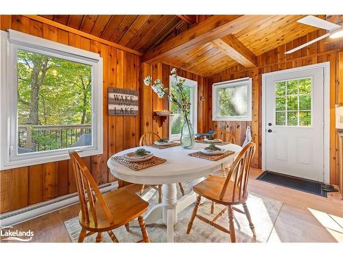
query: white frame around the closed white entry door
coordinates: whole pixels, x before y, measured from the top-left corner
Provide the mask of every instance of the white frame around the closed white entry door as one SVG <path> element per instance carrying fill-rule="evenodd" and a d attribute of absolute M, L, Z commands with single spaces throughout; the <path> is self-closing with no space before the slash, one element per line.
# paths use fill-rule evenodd
<path fill-rule="evenodd" d="M 324 68 L 324 183 L 330 182 L 330 62 L 321 62 L 307 66 L 300 66 L 282 71 L 273 71 L 262 74 L 262 170 L 265 171 L 265 91 L 267 78 L 274 75 L 291 73 L 294 71 L 306 71 L 309 69 Z"/>

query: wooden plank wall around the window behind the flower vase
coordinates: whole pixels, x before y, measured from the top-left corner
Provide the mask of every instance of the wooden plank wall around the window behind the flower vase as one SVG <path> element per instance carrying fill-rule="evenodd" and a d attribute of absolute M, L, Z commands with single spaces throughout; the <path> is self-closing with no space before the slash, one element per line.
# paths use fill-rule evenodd
<path fill-rule="evenodd" d="M 162 79 L 163 84 L 166 87 L 169 87 L 169 75 L 173 69 L 173 66 L 168 64 L 142 64 L 142 78 L 147 75 L 152 75 L 152 81 L 155 79 Z M 188 71 L 183 71 L 178 69 L 178 75 L 180 77 L 185 77 L 187 79 L 192 79 L 198 82 L 198 132 L 207 132 L 209 130 L 209 116 L 206 114 L 209 109 L 208 99 L 202 99 L 207 95 L 207 86 L 209 84 L 206 77 L 190 73 Z M 141 99 L 142 105 L 142 125 L 141 132 L 155 132 L 156 134 L 168 138 L 169 137 L 169 117 L 165 119 L 164 122 L 161 122 L 159 119 L 154 119 L 154 111 L 156 110 L 169 110 L 169 102 L 167 97 L 165 99 L 158 99 L 158 96 L 152 91 L 149 86 L 145 86 L 141 83 Z"/>

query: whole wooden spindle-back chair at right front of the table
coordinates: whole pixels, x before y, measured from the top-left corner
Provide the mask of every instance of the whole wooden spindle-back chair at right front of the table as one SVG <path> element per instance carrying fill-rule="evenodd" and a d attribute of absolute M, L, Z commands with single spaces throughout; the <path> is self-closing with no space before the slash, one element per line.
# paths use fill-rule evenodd
<path fill-rule="evenodd" d="M 203 180 L 199 184 L 193 186 L 193 191 L 198 194 L 198 197 L 196 199 L 196 206 L 194 206 L 193 213 L 191 215 L 191 220 L 188 223 L 187 234 L 191 232 L 193 221 L 197 217 L 198 219 L 209 223 L 209 225 L 230 234 L 231 242 L 235 243 L 236 233 L 235 224 L 233 223 L 233 210 L 235 210 L 246 215 L 252 234 L 256 236 L 255 227 L 251 221 L 248 206 L 246 205 L 246 200 L 248 199 L 247 189 L 250 164 L 252 157 L 255 154 L 255 149 L 255 143 L 248 143 L 248 145 L 241 150 L 235 162 L 233 162 L 226 178 L 222 178 L 217 175 L 210 175 L 206 180 Z M 222 204 L 225 208 L 212 220 L 197 215 L 201 197 L 205 197 L 217 204 Z M 236 208 L 235 205 L 238 204 L 242 204 L 244 210 Z M 215 221 L 220 219 L 226 211 L 228 212 L 229 230 L 224 228 L 222 225 L 215 223 Z"/>

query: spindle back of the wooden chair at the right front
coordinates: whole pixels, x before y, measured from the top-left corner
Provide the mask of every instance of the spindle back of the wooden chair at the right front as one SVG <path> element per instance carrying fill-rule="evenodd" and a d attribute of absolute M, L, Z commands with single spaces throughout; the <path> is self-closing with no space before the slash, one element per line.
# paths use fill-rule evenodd
<path fill-rule="evenodd" d="M 235 162 L 231 165 L 230 171 L 228 172 L 228 176 L 224 182 L 224 186 L 222 188 L 222 192 L 220 193 L 220 199 L 223 199 L 225 192 L 228 187 L 228 182 L 233 181 L 233 188 L 232 189 L 232 201 L 235 201 L 235 197 L 238 195 L 239 201 L 242 197 L 246 196 L 246 191 L 248 187 L 248 178 L 250 173 L 250 165 L 252 162 L 252 158 L 254 157 L 256 151 L 255 143 L 248 143 L 239 155 L 237 156 Z"/>

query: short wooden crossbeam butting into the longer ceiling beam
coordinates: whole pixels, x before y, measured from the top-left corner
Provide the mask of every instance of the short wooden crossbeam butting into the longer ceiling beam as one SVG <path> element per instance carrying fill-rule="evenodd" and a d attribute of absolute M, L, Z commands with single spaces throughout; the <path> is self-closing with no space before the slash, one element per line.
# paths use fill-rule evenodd
<path fill-rule="evenodd" d="M 213 40 L 212 45 L 246 68 L 257 66 L 257 56 L 233 34 Z"/>

